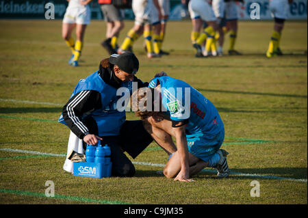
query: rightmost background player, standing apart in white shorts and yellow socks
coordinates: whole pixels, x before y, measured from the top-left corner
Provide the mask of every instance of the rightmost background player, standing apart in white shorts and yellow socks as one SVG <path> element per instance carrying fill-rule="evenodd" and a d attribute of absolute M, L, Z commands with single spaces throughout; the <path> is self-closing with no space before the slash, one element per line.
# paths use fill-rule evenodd
<path fill-rule="evenodd" d="M 272 0 L 270 1 L 270 12 L 274 17 L 274 31 L 272 32 L 272 38 L 270 38 L 270 45 L 266 52 L 266 57 L 273 57 L 276 55 L 282 55 L 280 49 L 281 32 L 285 20 L 287 19 L 287 13 L 290 9 L 290 4 L 293 0 Z"/>

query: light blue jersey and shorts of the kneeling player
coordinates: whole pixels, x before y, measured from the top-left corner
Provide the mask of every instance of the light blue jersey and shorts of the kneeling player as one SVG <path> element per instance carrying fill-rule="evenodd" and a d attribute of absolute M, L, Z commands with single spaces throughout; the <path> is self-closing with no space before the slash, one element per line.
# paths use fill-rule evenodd
<path fill-rule="evenodd" d="M 196 89 L 172 77 L 157 77 L 149 87 L 161 85 L 162 105 L 171 120 L 188 120 L 188 151 L 207 162 L 224 139 L 224 124 L 216 107 Z"/>

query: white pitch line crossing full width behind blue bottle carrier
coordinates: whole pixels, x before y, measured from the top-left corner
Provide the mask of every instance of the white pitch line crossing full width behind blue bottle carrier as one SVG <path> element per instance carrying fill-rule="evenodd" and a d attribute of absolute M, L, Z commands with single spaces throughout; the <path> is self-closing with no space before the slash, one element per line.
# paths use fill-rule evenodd
<path fill-rule="evenodd" d="M 40 155 L 47 155 L 47 156 L 63 156 L 63 157 L 66 156 L 66 154 L 53 154 L 53 153 L 37 152 L 33 150 L 20 150 L 20 149 L 12 149 L 12 148 L 0 148 L 0 150 L 5 151 L 5 152 L 19 152 L 19 153 L 25 153 L 25 154 L 40 154 Z M 148 162 L 139 162 L 139 161 L 132 161 L 132 163 L 136 165 L 146 165 L 146 166 L 151 166 L 151 167 L 164 167 L 165 166 L 164 164 L 160 164 L 160 163 L 148 163 Z M 203 169 L 202 172 L 216 173 L 216 170 Z M 287 178 L 287 177 L 281 177 L 281 176 L 244 174 L 244 173 L 232 172 L 232 171 L 231 171 L 231 175 L 252 177 L 252 178 L 266 178 L 266 179 L 272 179 L 272 180 L 289 180 L 289 181 L 294 181 L 294 182 L 307 182 L 307 179 L 305 178 Z"/>

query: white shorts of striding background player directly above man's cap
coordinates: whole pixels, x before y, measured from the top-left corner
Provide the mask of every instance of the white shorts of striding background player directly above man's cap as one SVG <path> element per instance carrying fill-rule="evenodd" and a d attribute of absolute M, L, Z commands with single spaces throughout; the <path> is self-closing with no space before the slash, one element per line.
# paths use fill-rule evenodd
<path fill-rule="evenodd" d="M 133 8 L 135 23 L 137 25 L 159 22 L 158 12 L 153 5 L 153 0 L 133 0 L 131 3 L 131 8 Z"/>

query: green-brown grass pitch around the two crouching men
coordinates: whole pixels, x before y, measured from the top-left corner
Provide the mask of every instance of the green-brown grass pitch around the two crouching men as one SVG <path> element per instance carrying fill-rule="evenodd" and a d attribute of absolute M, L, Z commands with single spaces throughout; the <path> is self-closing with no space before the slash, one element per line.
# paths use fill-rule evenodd
<path fill-rule="evenodd" d="M 125 25 L 120 42 L 133 22 Z M 134 44 L 140 79 L 164 70 L 190 83 L 224 122 L 231 176 L 218 180 L 207 170 L 195 182 L 175 182 L 156 173 L 168 156 L 154 142 L 133 160 L 133 178 L 82 178 L 62 169 L 69 130 L 57 118 L 79 79 L 107 57 L 103 21 L 88 26 L 73 68 L 61 21 L 0 20 L 0 204 L 307 204 L 307 22 L 287 22 L 285 55 L 267 59 L 272 25 L 240 22 L 242 56 L 195 58 L 190 21 L 168 23 L 167 57 L 147 59 L 142 39 Z M 224 53 L 228 46 L 227 36 Z M 44 195 L 47 180 L 55 197 Z M 259 197 L 250 195 L 253 180 Z"/>

